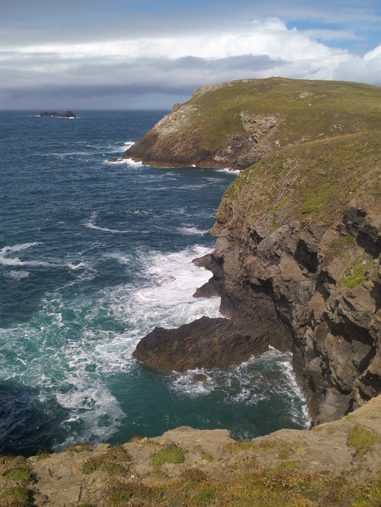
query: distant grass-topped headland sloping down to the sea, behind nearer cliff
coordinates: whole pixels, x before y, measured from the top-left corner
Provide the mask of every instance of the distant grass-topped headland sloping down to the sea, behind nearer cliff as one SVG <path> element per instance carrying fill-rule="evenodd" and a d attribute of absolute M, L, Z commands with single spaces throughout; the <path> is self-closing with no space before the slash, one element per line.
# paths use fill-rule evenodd
<path fill-rule="evenodd" d="M 205 85 L 123 158 L 159 167 L 244 169 L 319 136 L 381 129 L 381 89 L 284 78 Z"/>

